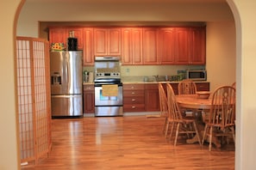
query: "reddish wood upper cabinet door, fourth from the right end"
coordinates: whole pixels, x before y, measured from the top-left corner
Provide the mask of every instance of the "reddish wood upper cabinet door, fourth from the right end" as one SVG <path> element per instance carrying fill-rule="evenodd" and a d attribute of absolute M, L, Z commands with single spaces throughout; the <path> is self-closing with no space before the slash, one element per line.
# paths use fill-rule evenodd
<path fill-rule="evenodd" d="M 158 28 L 143 28 L 142 58 L 143 64 L 159 64 Z"/>

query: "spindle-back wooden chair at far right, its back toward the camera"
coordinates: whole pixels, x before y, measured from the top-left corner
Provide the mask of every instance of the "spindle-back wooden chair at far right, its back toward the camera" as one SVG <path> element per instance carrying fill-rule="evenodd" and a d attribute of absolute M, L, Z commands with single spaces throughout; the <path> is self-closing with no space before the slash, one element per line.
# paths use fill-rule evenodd
<path fill-rule="evenodd" d="M 235 88 L 232 86 L 222 86 L 215 89 L 212 94 L 209 119 L 205 123 L 203 139 L 209 137 L 209 151 L 211 150 L 212 138 L 234 136 L 235 117 Z"/>

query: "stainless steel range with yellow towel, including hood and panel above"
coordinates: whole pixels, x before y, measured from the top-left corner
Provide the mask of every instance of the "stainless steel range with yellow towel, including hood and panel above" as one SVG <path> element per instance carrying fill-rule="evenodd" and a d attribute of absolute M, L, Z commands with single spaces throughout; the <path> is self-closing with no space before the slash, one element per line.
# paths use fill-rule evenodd
<path fill-rule="evenodd" d="M 96 57 L 95 116 L 122 116 L 122 82 L 118 57 Z"/>

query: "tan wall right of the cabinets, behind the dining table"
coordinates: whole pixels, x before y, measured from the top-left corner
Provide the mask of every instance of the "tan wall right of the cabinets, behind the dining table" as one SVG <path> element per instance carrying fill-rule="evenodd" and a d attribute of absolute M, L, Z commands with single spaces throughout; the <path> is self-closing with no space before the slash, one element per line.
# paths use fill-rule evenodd
<path fill-rule="evenodd" d="M 206 68 L 210 90 L 235 82 L 236 39 L 233 21 L 208 22 Z"/>

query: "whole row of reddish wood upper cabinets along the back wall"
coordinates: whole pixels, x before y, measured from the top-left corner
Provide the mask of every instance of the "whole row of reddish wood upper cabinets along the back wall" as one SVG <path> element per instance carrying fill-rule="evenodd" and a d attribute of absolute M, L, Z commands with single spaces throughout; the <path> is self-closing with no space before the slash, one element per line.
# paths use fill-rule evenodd
<path fill-rule="evenodd" d="M 50 43 L 70 32 L 83 50 L 84 66 L 95 56 L 121 56 L 122 65 L 205 64 L 205 27 L 50 27 Z"/>

